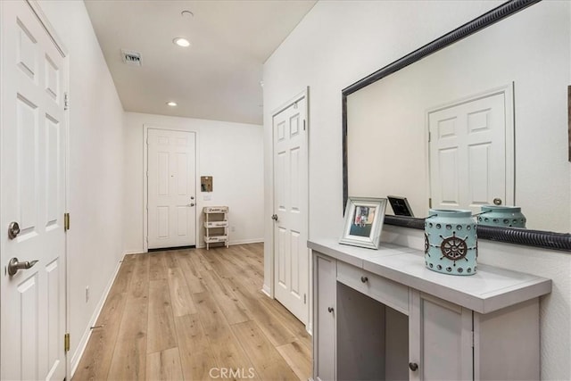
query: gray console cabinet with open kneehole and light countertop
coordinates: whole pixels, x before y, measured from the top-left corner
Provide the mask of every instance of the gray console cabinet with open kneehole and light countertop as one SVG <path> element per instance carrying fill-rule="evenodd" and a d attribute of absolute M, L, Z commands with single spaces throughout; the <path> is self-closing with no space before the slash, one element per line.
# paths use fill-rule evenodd
<path fill-rule="evenodd" d="M 389 244 L 308 245 L 315 380 L 540 378 L 539 298 L 550 279 L 484 265 L 447 276 Z"/>

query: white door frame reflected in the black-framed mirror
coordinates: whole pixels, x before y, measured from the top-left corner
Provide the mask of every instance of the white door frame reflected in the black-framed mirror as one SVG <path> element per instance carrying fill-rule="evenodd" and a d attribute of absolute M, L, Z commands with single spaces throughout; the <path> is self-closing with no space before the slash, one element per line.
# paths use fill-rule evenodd
<path fill-rule="evenodd" d="M 490 89 L 480 91 L 478 93 L 462 96 L 459 99 L 447 102 L 445 104 L 439 104 L 437 106 L 431 107 L 425 112 L 425 170 L 426 170 L 426 195 L 428 198 L 432 198 L 432 178 L 430 178 L 430 142 L 429 128 L 430 121 L 429 115 L 431 112 L 438 112 L 449 107 L 453 107 L 459 104 L 465 104 L 468 102 L 476 101 L 477 99 L 484 98 L 491 95 L 504 95 L 504 110 L 506 112 L 506 129 L 504 131 L 505 138 L 505 149 L 506 149 L 506 159 L 511 158 L 511 160 L 506 160 L 506 199 L 504 200 L 504 205 L 515 205 L 516 204 L 516 122 L 515 122 L 515 107 L 516 103 L 514 100 L 515 94 L 515 82 L 510 82 L 507 85 L 500 87 L 492 87 Z"/>

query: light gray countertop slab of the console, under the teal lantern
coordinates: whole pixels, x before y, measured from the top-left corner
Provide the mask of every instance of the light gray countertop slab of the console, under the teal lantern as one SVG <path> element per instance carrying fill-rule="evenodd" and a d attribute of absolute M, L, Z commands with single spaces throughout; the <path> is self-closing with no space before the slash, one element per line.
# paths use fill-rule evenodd
<path fill-rule="evenodd" d="M 378 250 L 371 250 L 339 244 L 334 239 L 319 239 L 308 241 L 308 247 L 480 313 L 497 311 L 551 292 L 550 279 L 480 263 L 474 275 L 441 274 L 426 269 L 423 252 L 395 244 L 382 243 Z"/>

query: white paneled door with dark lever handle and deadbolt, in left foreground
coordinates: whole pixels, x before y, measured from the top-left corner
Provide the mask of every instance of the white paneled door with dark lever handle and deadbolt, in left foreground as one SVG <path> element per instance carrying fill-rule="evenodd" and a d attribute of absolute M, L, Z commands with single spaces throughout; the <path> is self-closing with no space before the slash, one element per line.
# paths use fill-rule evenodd
<path fill-rule="evenodd" d="M 67 61 L 24 1 L 2 13 L 2 379 L 65 377 Z M 20 233 L 8 236 L 17 222 Z M 8 263 L 37 261 L 9 275 Z"/>

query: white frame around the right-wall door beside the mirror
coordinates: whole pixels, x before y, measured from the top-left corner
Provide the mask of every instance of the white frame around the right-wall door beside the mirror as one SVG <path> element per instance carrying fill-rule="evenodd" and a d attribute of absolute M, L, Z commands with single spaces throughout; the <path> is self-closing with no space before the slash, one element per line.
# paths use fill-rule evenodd
<path fill-rule="evenodd" d="M 306 161 L 305 162 L 305 167 L 306 167 L 306 177 L 305 177 L 305 192 L 303 192 L 304 196 L 305 196 L 305 200 L 302 201 L 302 203 L 305 204 L 305 209 L 307 211 L 307 216 L 304 219 L 305 220 L 305 230 L 307 233 L 307 237 L 309 239 L 310 237 L 310 87 L 305 87 L 302 92 L 298 93 L 297 95 L 295 95 L 294 97 L 290 98 L 287 102 L 285 102 L 284 104 L 281 104 L 280 106 L 278 106 L 276 109 L 274 109 L 274 111 L 271 112 L 271 145 L 269 148 L 269 151 L 271 152 L 271 192 L 270 192 L 270 205 L 271 205 L 271 214 L 276 213 L 275 211 L 275 205 L 274 205 L 274 201 L 276 199 L 275 195 L 276 195 L 276 189 L 275 189 L 275 180 L 276 180 L 276 172 L 275 172 L 275 166 L 276 163 L 274 162 L 274 117 L 280 113 L 283 112 L 285 109 L 287 109 L 289 106 L 291 106 L 292 104 L 295 104 L 296 102 L 299 102 L 301 99 L 305 98 L 305 123 L 306 123 L 306 127 L 305 127 L 305 137 L 303 139 L 303 145 L 305 148 L 305 152 L 306 154 Z M 276 298 L 276 293 L 275 293 L 275 289 L 276 289 L 276 268 L 275 268 L 275 263 L 276 263 L 276 250 L 275 250 L 275 235 L 276 235 L 276 228 L 275 228 L 275 223 L 273 220 L 271 220 L 271 235 L 270 236 L 270 240 L 271 242 L 269 242 L 269 247 L 270 247 L 270 253 L 271 255 L 269 255 L 269 267 L 270 267 L 270 271 L 269 271 L 269 290 L 266 289 L 266 286 L 264 285 L 264 288 L 262 289 L 262 292 L 264 292 L 265 294 L 268 294 L 270 298 L 275 299 Z M 313 309 L 312 309 L 312 305 L 313 305 L 313 300 L 311 297 L 312 294 L 312 289 L 313 286 L 311 284 L 311 271 L 312 271 L 312 265 L 311 265 L 311 251 L 308 248 L 308 261 L 307 261 L 307 267 L 308 267 L 308 302 L 307 302 L 307 308 L 308 308 L 308 322 L 307 325 L 305 327 L 305 329 L 308 332 L 311 332 L 311 322 L 313 319 Z"/>

